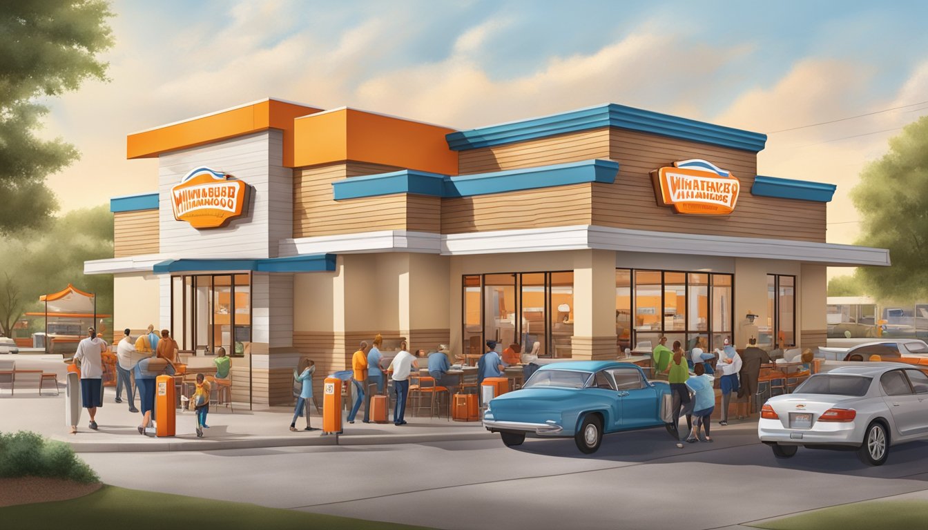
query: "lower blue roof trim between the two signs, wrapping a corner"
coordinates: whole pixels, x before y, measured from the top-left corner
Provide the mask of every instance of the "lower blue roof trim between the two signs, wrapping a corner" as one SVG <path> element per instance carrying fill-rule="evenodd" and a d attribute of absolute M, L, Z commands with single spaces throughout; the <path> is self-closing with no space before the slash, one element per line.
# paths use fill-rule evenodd
<path fill-rule="evenodd" d="M 615 175 L 618 172 L 619 164 L 609 160 L 559 163 L 463 176 L 403 170 L 380 175 L 353 176 L 333 182 L 332 195 L 335 200 L 360 199 L 396 193 L 454 199 L 585 182 L 608 184 L 615 181 Z"/>

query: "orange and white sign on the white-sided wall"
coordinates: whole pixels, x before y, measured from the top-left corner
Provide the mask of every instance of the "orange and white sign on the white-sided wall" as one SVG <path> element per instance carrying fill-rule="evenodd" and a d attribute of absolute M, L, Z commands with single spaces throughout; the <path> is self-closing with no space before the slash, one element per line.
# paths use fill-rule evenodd
<path fill-rule="evenodd" d="M 171 188 L 174 219 L 194 228 L 218 228 L 241 215 L 248 202 L 248 185 L 207 167 L 197 168 Z"/>

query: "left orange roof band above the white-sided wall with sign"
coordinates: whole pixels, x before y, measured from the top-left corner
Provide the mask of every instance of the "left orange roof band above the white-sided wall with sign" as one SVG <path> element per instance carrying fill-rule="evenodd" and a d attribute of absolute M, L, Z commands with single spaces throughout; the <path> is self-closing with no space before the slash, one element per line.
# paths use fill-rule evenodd
<path fill-rule="evenodd" d="M 193 148 L 235 136 L 274 128 L 284 131 L 284 164 L 293 159 L 293 119 L 319 109 L 265 99 L 235 109 L 172 123 L 126 137 L 126 158 L 154 158 L 179 149 Z M 288 152 L 288 148 L 290 151 Z"/>

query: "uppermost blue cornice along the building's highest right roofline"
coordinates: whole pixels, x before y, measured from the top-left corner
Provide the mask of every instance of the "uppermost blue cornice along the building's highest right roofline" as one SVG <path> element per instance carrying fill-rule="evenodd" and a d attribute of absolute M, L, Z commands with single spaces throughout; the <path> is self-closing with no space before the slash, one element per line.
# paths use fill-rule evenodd
<path fill-rule="evenodd" d="M 767 135 L 760 133 L 697 122 L 651 110 L 634 109 L 615 103 L 520 122 L 490 125 L 470 131 L 458 131 L 446 135 L 445 139 L 449 148 L 461 151 L 502 146 L 601 127 L 628 129 L 754 153 L 764 149 L 767 143 Z"/>

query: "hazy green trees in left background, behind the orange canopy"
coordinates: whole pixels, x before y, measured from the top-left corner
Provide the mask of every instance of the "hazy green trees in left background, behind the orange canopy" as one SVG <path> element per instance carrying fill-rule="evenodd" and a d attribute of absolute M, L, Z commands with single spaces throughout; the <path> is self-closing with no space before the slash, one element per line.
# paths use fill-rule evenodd
<path fill-rule="evenodd" d="M 112 275 L 84 276 L 84 261 L 113 256 L 113 215 L 109 205 L 74 210 L 26 230 L 0 237 L 0 330 L 10 336 L 23 312 L 41 311 L 39 296 L 69 283 L 97 295 L 97 313 L 112 314 Z"/>

